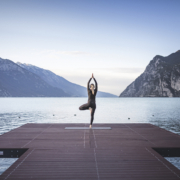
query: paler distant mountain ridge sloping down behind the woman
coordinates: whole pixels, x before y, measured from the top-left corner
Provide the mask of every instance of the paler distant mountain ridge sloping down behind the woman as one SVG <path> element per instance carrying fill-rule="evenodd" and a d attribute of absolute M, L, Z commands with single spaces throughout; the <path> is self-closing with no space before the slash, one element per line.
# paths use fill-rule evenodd
<path fill-rule="evenodd" d="M 43 79 L 49 85 L 62 89 L 64 92 L 70 94 L 72 97 L 87 97 L 86 87 L 71 83 L 67 81 L 65 78 L 40 67 L 31 65 L 31 64 L 23 64 L 20 62 L 17 62 L 17 64 L 21 66 L 22 68 L 38 75 L 41 79 Z M 117 96 L 110 93 L 98 91 L 97 97 L 117 97 Z"/>

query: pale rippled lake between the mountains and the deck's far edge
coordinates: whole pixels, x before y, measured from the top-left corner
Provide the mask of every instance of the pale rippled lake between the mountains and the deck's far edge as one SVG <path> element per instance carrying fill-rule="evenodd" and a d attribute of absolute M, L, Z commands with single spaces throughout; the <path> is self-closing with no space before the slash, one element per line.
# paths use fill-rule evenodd
<path fill-rule="evenodd" d="M 0 134 L 26 123 L 89 123 L 90 112 L 78 109 L 86 102 L 87 98 L 0 98 Z M 97 98 L 96 104 L 94 123 L 152 123 L 180 134 L 180 98 Z"/>

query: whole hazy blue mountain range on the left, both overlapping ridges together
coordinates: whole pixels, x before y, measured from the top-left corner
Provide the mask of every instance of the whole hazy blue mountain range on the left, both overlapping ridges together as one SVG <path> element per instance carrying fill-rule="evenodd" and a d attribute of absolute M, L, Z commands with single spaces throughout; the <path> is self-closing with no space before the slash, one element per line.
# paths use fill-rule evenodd
<path fill-rule="evenodd" d="M 0 97 L 86 97 L 86 87 L 33 65 L 0 58 Z M 117 97 L 98 92 L 99 97 Z"/>

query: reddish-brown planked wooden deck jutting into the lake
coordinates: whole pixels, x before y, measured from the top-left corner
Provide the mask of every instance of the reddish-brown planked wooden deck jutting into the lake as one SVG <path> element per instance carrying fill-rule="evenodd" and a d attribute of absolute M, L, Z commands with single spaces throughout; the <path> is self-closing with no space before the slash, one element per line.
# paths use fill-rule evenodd
<path fill-rule="evenodd" d="M 0 149 L 28 150 L 0 179 L 176 180 L 180 170 L 153 147 L 179 147 L 180 136 L 151 124 L 25 124 L 0 136 Z"/>

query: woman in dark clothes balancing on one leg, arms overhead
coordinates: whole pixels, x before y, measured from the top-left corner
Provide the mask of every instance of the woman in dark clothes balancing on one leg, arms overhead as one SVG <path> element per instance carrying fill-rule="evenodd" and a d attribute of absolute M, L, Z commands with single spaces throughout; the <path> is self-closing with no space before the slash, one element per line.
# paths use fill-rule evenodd
<path fill-rule="evenodd" d="M 94 88 L 94 84 L 91 84 L 90 88 L 89 88 L 89 83 L 91 81 L 91 79 L 94 79 L 95 81 L 95 85 L 96 87 Z M 97 91 L 98 91 L 98 85 L 97 85 L 97 82 L 96 82 L 96 79 L 94 78 L 93 74 L 92 74 L 92 77 L 89 79 L 88 83 L 87 83 L 87 91 L 88 91 L 88 103 L 86 104 L 83 104 L 82 106 L 79 107 L 79 110 L 87 110 L 89 109 L 90 112 L 91 112 L 91 121 L 90 121 L 90 128 L 92 127 L 92 123 L 93 123 L 93 120 L 94 120 L 94 112 L 95 112 L 95 109 L 96 109 L 96 94 L 97 94 Z"/>

